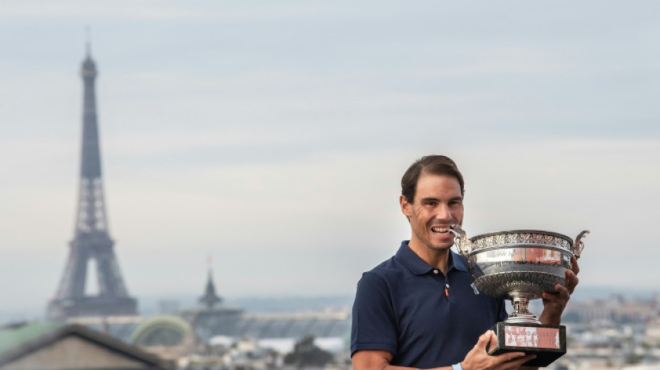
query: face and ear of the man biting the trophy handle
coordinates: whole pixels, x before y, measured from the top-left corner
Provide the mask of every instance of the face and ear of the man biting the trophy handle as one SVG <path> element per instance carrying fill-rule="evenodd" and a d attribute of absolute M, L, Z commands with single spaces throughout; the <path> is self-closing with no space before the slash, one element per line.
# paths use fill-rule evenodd
<path fill-rule="evenodd" d="M 454 244 L 453 224 L 463 224 L 463 196 L 459 180 L 453 176 L 422 174 L 415 187 L 415 199 L 408 203 L 399 199 L 401 210 L 409 217 L 412 230 L 410 244 L 425 245 L 436 251 Z"/>

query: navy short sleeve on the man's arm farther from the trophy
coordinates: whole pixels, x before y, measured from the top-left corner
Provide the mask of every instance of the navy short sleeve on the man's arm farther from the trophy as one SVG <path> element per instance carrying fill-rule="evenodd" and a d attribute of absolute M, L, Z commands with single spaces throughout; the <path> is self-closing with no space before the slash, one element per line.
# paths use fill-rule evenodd
<path fill-rule="evenodd" d="M 397 353 L 397 320 L 386 280 L 367 272 L 353 303 L 351 355 L 362 350 Z"/>

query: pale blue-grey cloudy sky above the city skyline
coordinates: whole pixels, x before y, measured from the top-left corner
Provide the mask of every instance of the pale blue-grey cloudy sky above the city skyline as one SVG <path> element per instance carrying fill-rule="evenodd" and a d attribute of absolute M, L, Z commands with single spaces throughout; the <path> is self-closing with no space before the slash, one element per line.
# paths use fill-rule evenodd
<path fill-rule="evenodd" d="M 354 294 L 409 238 L 400 178 L 431 153 L 463 172 L 468 235 L 589 229 L 581 285 L 660 290 L 659 15 L 657 1 L 3 1 L 0 312 L 42 312 L 63 274 L 86 40 L 133 296 L 201 295 L 209 256 L 226 298 Z"/>

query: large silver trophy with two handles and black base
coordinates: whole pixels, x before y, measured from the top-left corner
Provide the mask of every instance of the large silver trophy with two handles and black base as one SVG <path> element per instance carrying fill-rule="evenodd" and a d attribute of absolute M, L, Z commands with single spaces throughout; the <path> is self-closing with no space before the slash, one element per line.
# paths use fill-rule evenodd
<path fill-rule="evenodd" d="M 564 271 L 572 268 L 571 257 L 580 258 L 581 239 L 589 231 L 579 233 L 573 242 L 566 235 L 543 230 L 498 231 L 470 239 L 459 225 L 451 230 L 477 289 L 513 303 L 509 319 L 493 326 L 497 343 L 491 344 L 488 353 L 534 353 L 536 358 L 525 365 L 538 367 L 566 353 L 566 327 L 543 325 L 527 307 L 543 291 L 556 292 L 555 283 L 566 283 Z"/>

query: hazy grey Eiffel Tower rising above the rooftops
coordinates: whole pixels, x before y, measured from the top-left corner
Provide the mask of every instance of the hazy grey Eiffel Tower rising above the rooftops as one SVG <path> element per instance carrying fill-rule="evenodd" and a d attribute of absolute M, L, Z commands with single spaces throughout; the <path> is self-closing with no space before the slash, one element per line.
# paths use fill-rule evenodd
<path fill-rule="evenodd" d="M 83 145 L 78 212 L 64 275 L 55 298 L 48 305 L 47 316 L 50 319 L 137 314 L 137 301 L 126 290 L 113 250 L 115 242 L 108 233 L 94 94 L 97 69 L 89 42 L 81 76 L 84 87 Z M 98 295 L 85 294 L 88 264 L 91 261 L 96 262 Z"/>

